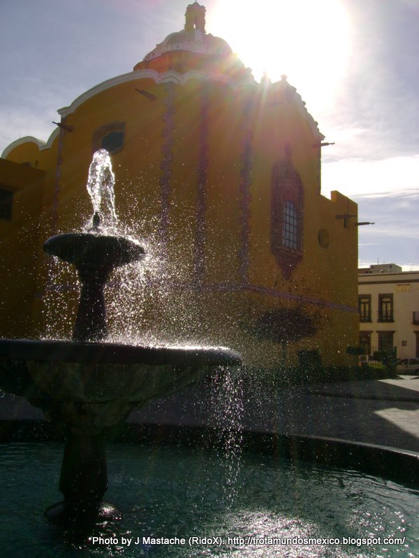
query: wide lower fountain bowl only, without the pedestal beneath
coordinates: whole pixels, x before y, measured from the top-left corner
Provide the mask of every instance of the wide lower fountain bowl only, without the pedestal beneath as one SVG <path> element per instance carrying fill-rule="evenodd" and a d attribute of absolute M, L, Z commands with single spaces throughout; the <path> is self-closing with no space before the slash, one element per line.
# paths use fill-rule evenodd
<path fill-rule="evenodd" d="M 0 340 L 0 387 L 48 418 L 95 435 L 149 400 L 238 365 L 223 347 L 142 347 L 57 340 Z"/>

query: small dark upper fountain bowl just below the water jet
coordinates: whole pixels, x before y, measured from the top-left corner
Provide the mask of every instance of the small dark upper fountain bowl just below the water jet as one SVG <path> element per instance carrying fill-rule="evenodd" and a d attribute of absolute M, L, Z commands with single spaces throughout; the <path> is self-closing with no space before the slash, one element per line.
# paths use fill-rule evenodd
<path fill-rule="evenodd" d="M 114 269 L 138 261 L 145 253 L 144 248 L 133 239 L 95 232 L 57 234 L 45 242 L 44 250 L 75 265 L 77 269 L 86 266 Z"/>

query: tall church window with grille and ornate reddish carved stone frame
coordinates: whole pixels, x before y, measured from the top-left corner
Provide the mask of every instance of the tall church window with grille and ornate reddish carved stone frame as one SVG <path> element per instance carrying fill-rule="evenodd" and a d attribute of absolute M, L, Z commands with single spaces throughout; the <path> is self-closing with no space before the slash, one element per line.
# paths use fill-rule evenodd
<path fill-rule="evenodd" d="M 291 147 L 272 169 L 271 250 L 286 279 L 302 259 L 304 190 L 291 163 Z"/>

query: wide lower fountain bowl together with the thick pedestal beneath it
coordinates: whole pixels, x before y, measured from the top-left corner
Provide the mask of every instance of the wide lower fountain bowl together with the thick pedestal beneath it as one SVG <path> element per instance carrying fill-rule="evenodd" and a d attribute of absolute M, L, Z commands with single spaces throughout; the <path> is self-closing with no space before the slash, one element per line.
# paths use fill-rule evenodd
<path fill-rule="evenodd" d="M 23 395 L 66 428 L 51 522 L 75 529 L 117 520 L 103 501 L 108 488 L 105 431 L 149 400 L 203 379 L 240 356 L 213 347 L 140 347 L 54 340 L 0 340 L 0 388 Z"/>

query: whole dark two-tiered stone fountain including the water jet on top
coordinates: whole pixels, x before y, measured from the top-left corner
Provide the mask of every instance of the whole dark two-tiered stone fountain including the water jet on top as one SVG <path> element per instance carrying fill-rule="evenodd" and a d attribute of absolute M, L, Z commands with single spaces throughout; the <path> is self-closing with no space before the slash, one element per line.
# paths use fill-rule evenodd
<path fill-rule="evenodd" d="M 115 220 L 113 173 L 105 150 L 95 153 L 87 188 L 94 206 L 91 229 L 52 236 L 44 245 L 47 254 L 73 264 L 82 283 L 73 339 L 0 340 L 1 388 L 23 395 L 66 428 L 59 481 L 64 500 L 45 511 L 50 521 L 62 525 L 121 516 L 103 502 L 108 488 L 106 428 L 149 400 L 199 381 L 218 365 L 240 363 L 240 355 L 225 348 L 103 341 L 106 282 L 113 269 L 138 262 L 145 251 L 138 241 L 107 234 L 102 227 L 102 218 Z"/>

